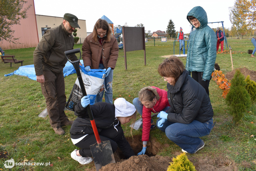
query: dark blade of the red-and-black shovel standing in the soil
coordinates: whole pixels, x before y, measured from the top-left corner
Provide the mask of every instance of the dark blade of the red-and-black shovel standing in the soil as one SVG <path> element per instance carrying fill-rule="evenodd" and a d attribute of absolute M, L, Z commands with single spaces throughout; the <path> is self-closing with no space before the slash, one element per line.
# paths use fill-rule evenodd
<path fill-rule="evenodd" d="M 96 170 L 109 163 L 115 163 L 110 141 L 101 141 L 90 146 Z"/>

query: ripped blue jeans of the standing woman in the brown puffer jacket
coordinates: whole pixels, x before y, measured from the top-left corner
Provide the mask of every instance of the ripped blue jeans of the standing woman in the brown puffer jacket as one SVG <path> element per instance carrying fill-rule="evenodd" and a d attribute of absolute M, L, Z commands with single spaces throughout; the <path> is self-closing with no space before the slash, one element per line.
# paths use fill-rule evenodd
<path fill-rule="evenodd" d="M 100 63 L 99 69 L 105 69 L 104 65 Z M 102 92 L 98 92 L 95 103 L 102 102 L 103 95 L 105 97 L 105 102 L 113 104 L 113 90 L 112 90 L 112 81 L 113 81 L 113 70 L 110 70 L 107 77 L 105 77 L 105 80 L 103 82 L 104 90 Z M 105 92 L 104 92 L 105 91 Z"/>

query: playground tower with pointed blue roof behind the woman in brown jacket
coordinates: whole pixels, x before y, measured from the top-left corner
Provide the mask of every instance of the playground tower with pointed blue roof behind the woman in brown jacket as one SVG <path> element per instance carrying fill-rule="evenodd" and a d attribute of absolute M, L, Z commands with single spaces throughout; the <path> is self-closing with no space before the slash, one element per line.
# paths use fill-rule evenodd
<path fill-rule="evenodd" d="M 109 20 L 109 18 L 106 17 L 105 15 L 103 15 L 101 17 L 101 19 L 106 20 L 109 23 L 109 25 L 112 27 L 113 36 L 117 39 L 119 49 L 123 49 L 123 38 L 122 38 L 121 25 L 114 26 L 114 23 L 111 20 Z"/>

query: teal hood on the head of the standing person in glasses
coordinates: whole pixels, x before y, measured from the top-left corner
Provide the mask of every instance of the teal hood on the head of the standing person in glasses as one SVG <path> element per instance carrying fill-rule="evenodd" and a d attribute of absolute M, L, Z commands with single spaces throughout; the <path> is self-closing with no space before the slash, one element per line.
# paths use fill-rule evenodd
<path fill-rule="evenodd" d="M 192 8 L 188 14 L 187 14 L 187 20 L 190 23 L 190 20 L 188 18 L 188 16 L 193 16 L 195 17 L 199 22 L 200 22 L 200 26 L 198 29 L 201 29 L 205 26 L 208 25 L 208 19 L 207 19 L 207 14 L 204 10 L 204 8 L 200 7 L 200 6 L 196 6 L 194 8 Z M 191 23 L 190 23 L 191 24 Z M 192 25 L 192 24 L 191 24 Z M 192 25 L 193 26 L 193 25 Z"/>

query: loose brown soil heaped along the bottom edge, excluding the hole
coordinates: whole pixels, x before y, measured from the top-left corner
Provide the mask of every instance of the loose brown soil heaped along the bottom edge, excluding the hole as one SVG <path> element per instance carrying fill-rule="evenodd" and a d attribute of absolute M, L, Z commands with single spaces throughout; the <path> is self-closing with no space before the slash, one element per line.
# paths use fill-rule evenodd
<path fill-rule="evenodd" d="M 175 152 L 175 156 L 180 152 Z M 216 171 L 237 171 L 236 163 L 229 160 L 227 157 L 197 157 L 192 156 L 188 159 L 194 164 L 196 170 L 216 170 Z M 119 160 L 116 163 L 111 163 L 103 166 L 100 171 L 166 171 L 172 158 L 163 156 L 147 156 L 139 155 L 132 156 L 127 160 Z M 127 169 L 129 168 L 129 169 Z"/>

